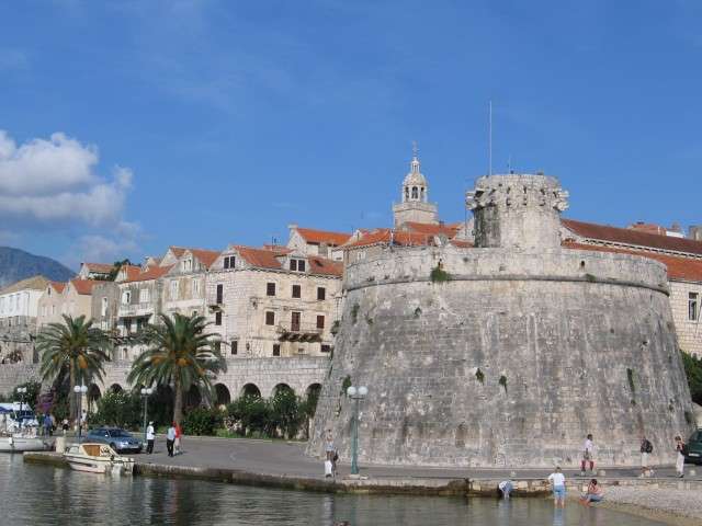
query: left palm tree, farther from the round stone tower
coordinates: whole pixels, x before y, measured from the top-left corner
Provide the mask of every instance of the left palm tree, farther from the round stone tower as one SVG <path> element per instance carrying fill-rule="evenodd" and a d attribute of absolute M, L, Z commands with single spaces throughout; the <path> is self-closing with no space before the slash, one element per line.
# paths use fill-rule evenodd
<path fill-rule="evenodd" d="M 92 327 L 92 320 L 84 316 L 72 318 L 63 316 L 63 323 L 49 323 L 36 336 L 36 348 L 41 353 L 41 375 L 46 381 L 68 374 L 70 384 L 69 408 L 76 418 L 76 401 L 72 392 L 77 381 L 102 379 L 103 362 L 107 358 L 105 348 L 107 335 Z"/>

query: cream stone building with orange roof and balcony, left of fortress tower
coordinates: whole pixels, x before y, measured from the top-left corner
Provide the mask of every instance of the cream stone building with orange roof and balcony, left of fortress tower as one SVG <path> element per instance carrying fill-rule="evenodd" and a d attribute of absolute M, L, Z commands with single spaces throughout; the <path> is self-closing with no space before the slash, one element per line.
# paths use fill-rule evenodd
<path fill-rule="evenodd" d="M 228 356 L 329 356 L 342 265 L 287 248 L 229 245 L 207 275 L 208 317 Z"/>

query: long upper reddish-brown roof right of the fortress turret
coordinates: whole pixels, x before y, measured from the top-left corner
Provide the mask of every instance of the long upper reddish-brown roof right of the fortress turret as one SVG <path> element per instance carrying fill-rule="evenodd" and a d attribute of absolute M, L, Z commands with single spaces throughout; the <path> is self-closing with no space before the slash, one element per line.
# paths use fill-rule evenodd
<path fill-rule="evenodd" d="M 562 219 L 561 222 L 568 230 L 587 239 L 702 255 L 702 241 L 659 236 L 639 230 L 595 225 L 592 222 L 582 222 L 573 219 Z"/>

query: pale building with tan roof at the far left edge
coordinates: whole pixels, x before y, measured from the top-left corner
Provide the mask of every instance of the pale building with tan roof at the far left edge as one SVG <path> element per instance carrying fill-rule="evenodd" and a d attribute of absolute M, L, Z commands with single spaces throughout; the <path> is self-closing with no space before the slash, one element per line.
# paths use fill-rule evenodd
<path fill-rule="evenodd" d="M 22 279 L 0 290 L 0 362 L 34 361 L 38 300 L 48 284 L 44 276 Z"/>

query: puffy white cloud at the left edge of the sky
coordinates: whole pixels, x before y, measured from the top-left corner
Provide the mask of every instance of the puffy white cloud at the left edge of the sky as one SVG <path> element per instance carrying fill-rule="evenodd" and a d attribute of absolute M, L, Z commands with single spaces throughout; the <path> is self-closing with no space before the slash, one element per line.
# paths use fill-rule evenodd
<path fill-rule="evenodd" d="M 0 219 L 25 226 L 116 226 L 132 187 L 132 171 L 115 167 L 107 181 L 95 173 L 98 162 L 97 147 L 61 133 L 18 147 L 0 130 Z"/>

